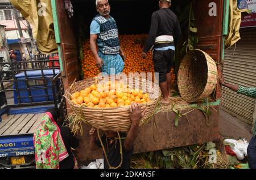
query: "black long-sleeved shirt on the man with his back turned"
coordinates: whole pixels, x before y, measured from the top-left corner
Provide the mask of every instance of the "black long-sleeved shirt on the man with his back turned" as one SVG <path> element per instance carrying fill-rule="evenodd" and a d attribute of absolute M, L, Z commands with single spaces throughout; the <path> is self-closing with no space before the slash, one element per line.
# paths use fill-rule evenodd
<path fill-rule="evenodd" d="M 150 32 L 148 33 L 143 52 L 148 52 L 155 44 L 155 38 L 163 35 L 173 36 L 175 44 L 180 41 L 180 23 L 177 16 L 170 8 L 161 8 L 151 15 Z"/>

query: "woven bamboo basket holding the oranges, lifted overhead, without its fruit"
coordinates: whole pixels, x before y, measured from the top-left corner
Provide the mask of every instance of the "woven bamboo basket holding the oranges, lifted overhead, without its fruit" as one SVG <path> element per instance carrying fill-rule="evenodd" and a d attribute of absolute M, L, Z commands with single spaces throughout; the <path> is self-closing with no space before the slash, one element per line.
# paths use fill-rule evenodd
<path fill-rule="evenodd" d="M 110 77 L 110 76 L 109 76 Z M 108 77 L 108 78 L 109 78 Z M 135 83 L 139 84 L 141 89 L 145 80 L 141 78 L 127 78 L 127 82 L 133 80 Z M 118 82 L 118 80 L 116 80 Z M 112 130 L 112 131 L 123 131 L 126 132 L 131 126 L 130 119 L 130 106 L 116 107 L 116 108 L 89 108 L 85 105 L 77 105 L 71 101 L 71 94 L 76 91 L 81 91 L 82 89 L 89 87 L 92 84 L 97 84 L 97 77 L 81 80 L 80 82 L 73 83 L 65 92 L 64 97 L 67 99 L 68 104 L 71 106 L 73 113 L 81 119 L 81 121 L 88 123 L 94 128 L 99 128 L 101 130 Z M 151 98 L 150 102 L 147 104 L 141 104 L 142 112 L 146 111 L 143 118 L 141 119 L 139 126 L 146 124 L 155 113 L 156 106 L 159 104 L 161 91 L 158 86 L 155 85 L 155 89 L 158 91 L 156 98 Z M 154 94 L 155 89 L 147 89 L 146 93 Z"/>

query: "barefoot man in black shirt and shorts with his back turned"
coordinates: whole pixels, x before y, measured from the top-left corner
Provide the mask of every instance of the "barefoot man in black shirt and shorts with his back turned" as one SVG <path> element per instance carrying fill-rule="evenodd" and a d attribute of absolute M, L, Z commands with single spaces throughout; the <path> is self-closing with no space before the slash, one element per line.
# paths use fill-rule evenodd
<path fill-rule="evenodd" d="M 177 16 L 170 10 L 171 0 L 160 0 L 159 10 L 151 16 L 150 32 L 142 51 L 142 57 L 154 47 L 153 60 L 155 72 L 159 73 L 159 86 L 163 98 L 161 102 L 169 104 L 171 87 L 171 67 L 174 62 L 175 44 L 179 43 L 181 30 Z"/>

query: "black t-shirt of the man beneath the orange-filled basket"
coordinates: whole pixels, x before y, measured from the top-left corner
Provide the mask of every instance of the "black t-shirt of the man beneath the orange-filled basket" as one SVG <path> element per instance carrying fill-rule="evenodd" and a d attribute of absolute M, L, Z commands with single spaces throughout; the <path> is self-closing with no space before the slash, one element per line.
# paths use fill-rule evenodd
<path fill-rule="evenodd" d="M 106 135 L 103 135 L 101 137 L 101 140 L 104 145 L 110 166 L 117 167 L 121 162 L 119 139 L 115 139 L 114 142 L 110 144 L 110 139 L 106 138 Z M 119 169 L 130 169 L 130 161 L 131 161 L 131 157 L 133 156 L 133 148 L 127 151 L 125 149 L 125 146 L 123 145 L 124 140 L 121 140 L 121 142 L 122 142 L 123 162 Z M 96 145 L 101 148 L 100 140 L 96 140 Z M 105 155 L 104 155 L 104 168 L 105 169 L 109 168 L 108 163 L 106 162 Z"/>

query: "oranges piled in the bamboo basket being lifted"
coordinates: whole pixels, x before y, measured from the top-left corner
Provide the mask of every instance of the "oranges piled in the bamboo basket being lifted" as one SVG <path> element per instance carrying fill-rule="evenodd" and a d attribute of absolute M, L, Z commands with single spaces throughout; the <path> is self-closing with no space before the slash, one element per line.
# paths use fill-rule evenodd
<path fill-rule="evenodd" d="M 90 87 L 72 93 L 71 101 L 77 105 L 89 108 L 114 108 L 130 106 L 133 102 L 150 102 L 148 93 L 139 89 L 124 87 L 122 82 L 106 82 L 105 84 L 92 84 Z"/>

